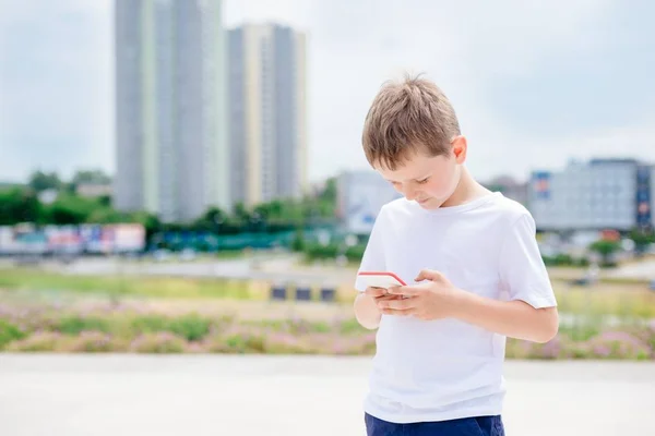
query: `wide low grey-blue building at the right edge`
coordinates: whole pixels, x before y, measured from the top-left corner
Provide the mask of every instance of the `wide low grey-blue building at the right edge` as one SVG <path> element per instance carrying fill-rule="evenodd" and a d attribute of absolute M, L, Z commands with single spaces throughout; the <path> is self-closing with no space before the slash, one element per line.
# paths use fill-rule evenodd
<path fill-rule="evenodd" d="M 593 159 L 559 172 L 535 171 L 528 195 L 541 230 L 655 226 L 655 167 L 633 159 Z"/>

